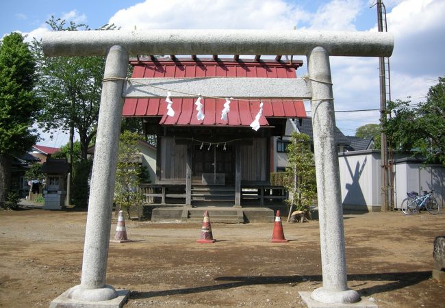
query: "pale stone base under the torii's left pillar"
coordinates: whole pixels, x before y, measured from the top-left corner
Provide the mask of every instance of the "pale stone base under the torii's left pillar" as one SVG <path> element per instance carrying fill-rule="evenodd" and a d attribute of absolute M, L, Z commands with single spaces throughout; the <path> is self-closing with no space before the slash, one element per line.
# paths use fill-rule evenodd
<path fill-rule="evenodd" d="M 55 298 L 49 307 L 120 308 L 127 302 L 129 294 L 129 290 L 114 290 L 110 285 L 99 289 L 83 289 L 81 285 L 76 285 Z"/>

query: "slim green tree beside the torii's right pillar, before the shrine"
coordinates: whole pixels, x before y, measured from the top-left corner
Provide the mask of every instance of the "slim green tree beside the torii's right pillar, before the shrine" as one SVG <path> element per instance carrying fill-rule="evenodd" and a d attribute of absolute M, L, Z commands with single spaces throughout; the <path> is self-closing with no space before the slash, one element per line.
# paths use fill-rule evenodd
<path fill-rule="evenodd" d="M 290 194 L 289 205 L 300 211 L 309 211 L 317 192 L 314 158 L 309 149 L 310 139 L 305 133 L 292 132 L 288 145 L 288 172 L 294 181 L 285 181 Z"/>

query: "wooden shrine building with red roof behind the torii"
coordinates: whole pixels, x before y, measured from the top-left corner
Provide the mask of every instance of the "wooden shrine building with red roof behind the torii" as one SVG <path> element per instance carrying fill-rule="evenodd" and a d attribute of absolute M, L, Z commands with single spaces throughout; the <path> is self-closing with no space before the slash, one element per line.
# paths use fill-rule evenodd
<path fill-rule="evenodd" d="M 270 77 L 295 78 L 301 61 L 178 59 L 133 61 L 133 78 L 153 77 Z M 196 97 L 197 97 L 196 93 Z M 306 117 L 303 101 L 264 100 L 261 127 L 251 128 L 259 100 L 233 100 L 227 120 L 221 120 L 224 99 L 202 99 L 205 118 L 196 118 L 195 98 L 171 99 L 174 116 L 168 116 L 165 99 L 126 99 L 124 117 L 142 118 L 144 131 L 157 136 L 156 177 L 162 188 L 161 203 L 241 206 L 244 191 L 255 192 L 260 203 L 270 187 L 274 153 L 271 142 L 285 135 L 288 118 Z M 272 162 L 271 162 L 272 161 Z M 153 194 L 154 195 L 154 194 Z M 168 197 L 170 201 L 168 200 Z M 252 200 L 250 200 L 252 201 Z"/>

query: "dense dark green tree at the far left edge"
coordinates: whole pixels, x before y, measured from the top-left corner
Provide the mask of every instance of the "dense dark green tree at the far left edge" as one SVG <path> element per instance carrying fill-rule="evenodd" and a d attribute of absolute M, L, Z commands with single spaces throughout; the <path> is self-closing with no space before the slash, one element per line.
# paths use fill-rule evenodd
<path fill-rule="evenodd" d="M 0 42 L 0 206 L 11 183 L 12 157 L 26 153 L 38 136 L 31 129 L 40 110 L 33 91 L 34 58 L 23 36 L 12 33 Z"/>

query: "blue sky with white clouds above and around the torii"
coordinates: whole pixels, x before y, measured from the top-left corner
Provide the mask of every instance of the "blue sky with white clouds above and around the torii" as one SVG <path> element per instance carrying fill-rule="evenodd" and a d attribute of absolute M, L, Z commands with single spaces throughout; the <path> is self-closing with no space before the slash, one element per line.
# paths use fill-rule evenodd
<path fill-rule="evenodd" d="M 40 38 L 49 31 L 45 21 L 53 15 L 86 23 L 92 29 L 105 23 L 133 29 L 316 29 L 377 31 L 373 0 L 34 0 L 1 4 L 0 37 L 21 31 Z M 394 34 L 391 61 L 392 99 L 411 97 L 424 101 L 437 77 L 445 75 L 445 1 L 383 0 L 388 31 Z M 306 62 L 305 57 L 295 56 Z M 331 57 L 335 110 L 379 107 L 377 58 Z M 305 67 L 297 72 L 305 74 Z M 307 107 L 309 109 L 309 107 Z M 367 123 L 378 123 L 379 112 L 336 114 L 337 126 L 346 135 Z M 42 135 L 39 144 L 60 146 Z"/>

